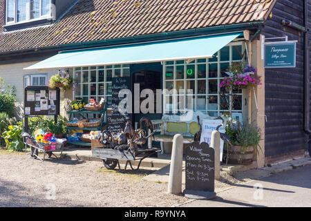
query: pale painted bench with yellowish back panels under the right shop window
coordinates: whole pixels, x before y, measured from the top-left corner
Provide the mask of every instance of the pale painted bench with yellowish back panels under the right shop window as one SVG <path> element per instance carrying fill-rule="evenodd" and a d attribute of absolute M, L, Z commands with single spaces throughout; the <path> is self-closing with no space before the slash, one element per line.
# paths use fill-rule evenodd
<path fill-rule="evenodd" d="M 204 115 L 202 112 L 194 112 L 191 119 L 185 121 L 178 121 L 176 115 L 163 115 L 162 119 L 151 120 L 153 124 L 153 132 L 160 132 L 154 135 L 156 142 L 160 142 L 161 153 L 164 153 L 164 145 L 166 142 L 173 142 L 173 137 L 176 133 L 180 133 L 183 137 L 184 144 L 190 144 L 194 141 L 194 135 L 200 130 L 197 116 L 200 117 L 200 124 L 202 119 L 213 119 L 209 115 Z M 149 140 L 150 141 L 150 140 Z M 151 142 L 149 142 L 149 148 Z"/>

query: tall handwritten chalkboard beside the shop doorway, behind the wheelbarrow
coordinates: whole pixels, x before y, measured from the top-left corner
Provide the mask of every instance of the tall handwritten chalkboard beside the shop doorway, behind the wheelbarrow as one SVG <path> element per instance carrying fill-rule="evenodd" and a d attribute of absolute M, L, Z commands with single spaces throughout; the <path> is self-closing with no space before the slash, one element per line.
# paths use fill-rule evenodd
<path fill-rule="evenodd" d="M 111 116 L 107 117 L 108 129 L 110 132 L 117 133 L 120 130 L 124 130 L 125 124 L 128 120 L 132 120 L 131 113 L 120 113 L 118 110 L 118 106 L 120 102 L 124 99 L 124 97 L 119 97 L 119 92 L 122 89 L 131 90 L 131 78 L 130 77 L 113 77 L 112 78 L 112 88 L 111 88 L 112 96 L 111 96 L 111 108 L 112 113 Z M 127 97 L 129 98 L 129 97 Z M 129 101 L 132 102 L 132 101 Z"/>

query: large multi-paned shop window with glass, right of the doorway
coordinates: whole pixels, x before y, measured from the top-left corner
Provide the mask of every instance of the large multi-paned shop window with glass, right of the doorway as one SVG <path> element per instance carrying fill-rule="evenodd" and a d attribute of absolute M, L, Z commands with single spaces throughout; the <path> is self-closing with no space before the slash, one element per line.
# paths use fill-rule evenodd
<path fill-rule="evenodd" d="M 192 90 L 192 108 L 210 116 L 228 114 L 232 107 L 233 113 L 242 113 L 242 91 L 233 91 L 232 98 L 227 101 L 220 96 L 220 81 L 228 76 L 229 65 L 233 61 L 242 61 L 243 46 L 241 43 L 231 43 L 225 46 L 209 59 L 194 59 L 185 61 L 166 61 L 163 63 L 164 89 L 176 88 L 178 96 L 164 95 L 164 113 L 180 114 L 187 111 L 187 99 Z M 185 90 L 181 90 L 185 89 Z M 184 95 L 180 96 L 180 91 Z M 181 106 L 180 99 L 183 99 Z M 231 104 L 231 105 L 228 105 Z M 175 106 L 174 106 L 175 105 Z"/>

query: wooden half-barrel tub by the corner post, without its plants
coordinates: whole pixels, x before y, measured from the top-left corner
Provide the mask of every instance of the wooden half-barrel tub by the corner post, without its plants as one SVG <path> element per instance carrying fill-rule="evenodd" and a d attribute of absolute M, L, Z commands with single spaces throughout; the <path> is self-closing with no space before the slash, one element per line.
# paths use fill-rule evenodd
<path fill-rule="evenodd" d="M 233 146 L 234 151 L 229 149 L 228 164 L 252 164 L 254 156 L 254 147 L 247 146 L 242 148 L 242 146 Z M 223 149 L 223 155 L 227 157 L 227 149 Z"/>

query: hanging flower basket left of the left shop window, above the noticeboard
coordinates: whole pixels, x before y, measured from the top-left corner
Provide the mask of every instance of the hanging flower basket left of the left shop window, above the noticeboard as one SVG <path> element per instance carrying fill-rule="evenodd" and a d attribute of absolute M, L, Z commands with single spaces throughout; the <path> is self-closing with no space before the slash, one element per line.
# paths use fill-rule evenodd
<path fill-rule="evenodd" d="M 48 81 L 48 86 L 50 88 L 61 88 L 62 90 L 71 90 L 75 89 L 78 83 L 73 83 L 73 78 L 65 71 L 58 71 L 56 75 L 50 77 Z"/>

